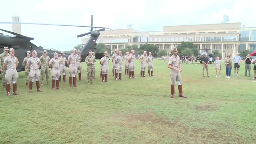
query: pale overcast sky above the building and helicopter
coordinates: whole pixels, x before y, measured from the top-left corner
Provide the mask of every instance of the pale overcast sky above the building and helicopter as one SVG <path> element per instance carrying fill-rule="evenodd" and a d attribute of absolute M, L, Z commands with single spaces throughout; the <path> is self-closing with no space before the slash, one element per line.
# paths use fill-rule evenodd
<path fill-rule="evenodd" d="M 230 23 L 242 22 L 256 27 L 255 0 L 2 0 L 1 22 L 21 22 L 93 26 L 111 29 L 132 24 L 140 31 L 162 31 L 163 26 L 221 23 L 223 15 Z M 12 31 L 12 24 L 0 24 Z M 78 34 L 90 28 L 21 25 L 21 34 L 34 37 L 31 41 L 46 49 L 71 50 L 81 44 Z M 0 33 L 7 34 L 0 31 Z"/>

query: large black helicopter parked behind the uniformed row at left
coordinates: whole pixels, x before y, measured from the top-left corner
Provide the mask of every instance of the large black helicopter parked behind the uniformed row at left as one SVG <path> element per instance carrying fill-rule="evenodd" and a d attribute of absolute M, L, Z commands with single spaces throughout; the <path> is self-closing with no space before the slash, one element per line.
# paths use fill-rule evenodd
<path fill-rule="evenodd" d="M 95 45 L 97 45 L 96 41 L 100 35 L 100 31 L 104 31 L 105 29 L 109 29 L 106 27 L 94 27 L 92 25 L 93 23 L 93 15 L 91 15 L 91 26 L 76 26 L 76 25 L 60 25 L 60 24 L 42 24 L 42 23 L 13 23 L 13 22 L 0 22 L 2 24 L 32 24 L 32 25 L 53 25 L 53 26 L 72 26 L 72 27 L 89 27 L 91 28 L 88 33 L 80 34 L 77 35 L 77 37 L 83 37 L 88 34 L 91 35 L 90 39 L 87 41 L 87 43 L 83 46 L 81 49 L 81 56 L 82 60 L 81 62 L 85 61 L 86 56 L 89 55 L 89 50 L 94 51 Z M 93 30 L 93 28 L 101 28 L 99 30 Z M 43 55 L 43 50 L 47 50 L 47 55 L 52 58 L 54 57 L 54 53 L 57 52 L 58 55 L 60 56 L 60 51 L 56 50 L 48 50 L 48 49 L 43 49 L 41 46 L 36 46 L 33 43 L 31 43 L 31 40 L 34 40 L 34 38 L 31 37 L 26 37 L 24 35 L 20 35 L 14 32 L 10 32 L 7 30 L 0 29 L 1 31 L 16 35 L 16 36 L 5 36 L 3 34 L 0 34 L 0 53 L 3 52 L 3 47 L 7 46 L 9 48 L 14 48 L 15 50 L 15 56 L 19 60 L 19 64 L 17 67 L 17 71 L 24 71 L 24 67 L 22 66 L 22 61 L 26 57 L 26 51 L 32 51 L 36 50 L 37 51 L 37 56 L 40 57 Z M 110 29 L 111 30 L 111 29 Z M 65 53 L 65 57 L 68 58 L 70 53 Z M 95 57 L 96 59 L 100 59 L 103 56 L 103 53 L 96 53 Z"/>

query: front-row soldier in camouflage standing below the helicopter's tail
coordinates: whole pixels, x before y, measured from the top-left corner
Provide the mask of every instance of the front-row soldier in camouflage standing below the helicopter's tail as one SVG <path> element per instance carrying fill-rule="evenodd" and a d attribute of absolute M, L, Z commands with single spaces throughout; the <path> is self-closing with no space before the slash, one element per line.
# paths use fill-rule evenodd
<path fill-rule="evenodd" d="M 94 64 L 95 64 L 95 56 L 92 55 L 92 51 L 89 51 L 89 55 L 85 58 L 85 63 L 87 64 L 87 81 L 88 84 L 92 84 L 92 77 L 94 74 Z M 91 83 L 90 83 L 91 80 Z"/>

